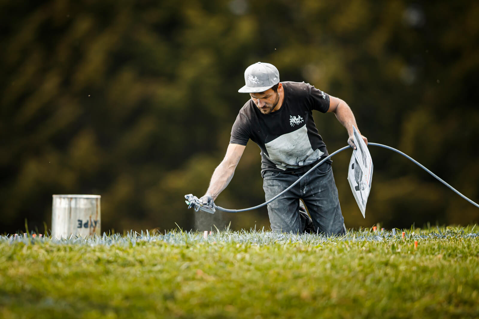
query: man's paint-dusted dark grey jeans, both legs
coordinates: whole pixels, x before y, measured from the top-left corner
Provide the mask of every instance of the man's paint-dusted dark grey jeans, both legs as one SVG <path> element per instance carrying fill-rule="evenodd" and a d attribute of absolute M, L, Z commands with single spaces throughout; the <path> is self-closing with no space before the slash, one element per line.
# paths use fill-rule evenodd
<path fill-rule="evenodd" d="M 264 197 L 269 200 L 285 190 L 304 174 L 266 172 L 263 177 Z M 344 219 L 339 204 L 331 163 L 325 162 L 309 173 L 297 185 L 268 204 L 273 231 L 304 232 L 308 220 L 299 212 L 299 198 L 308 208 L 314 232 L 328 236 L 344 234 Z"/>

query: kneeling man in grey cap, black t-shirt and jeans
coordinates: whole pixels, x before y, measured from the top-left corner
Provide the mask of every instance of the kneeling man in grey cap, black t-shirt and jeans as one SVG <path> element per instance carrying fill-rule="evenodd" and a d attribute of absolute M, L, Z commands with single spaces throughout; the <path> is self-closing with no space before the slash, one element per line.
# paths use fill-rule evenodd
<path fill-rule="evenodd" d="M 269 63 L 255 63 L 245 73 L 241 93 L 251 99 L 239 111 L 223 161 L 211 177 L 205 205 L 228 186 L 246 143 L 251 139 L 261 148 L 263 189 L 269 200 L 293 184 L 321 159 L 328 156 L 312 111 L 333 112 L 349 134 L 354 149 L 353 112 L 342 100 L 308 83 L 280 82 L 279 72 Z M 358 130 L 359 132 L 359 130 Z M 365 143 L 367 139 L 363 136 Z M 300 209 L 304 201 L 311 218 Z M 314 231 L 326 235 L 343 234 L 344 219 L 331 170 L 331 160 L 317 167 L 287 193 L 268 204 L 273 231 Z"/>

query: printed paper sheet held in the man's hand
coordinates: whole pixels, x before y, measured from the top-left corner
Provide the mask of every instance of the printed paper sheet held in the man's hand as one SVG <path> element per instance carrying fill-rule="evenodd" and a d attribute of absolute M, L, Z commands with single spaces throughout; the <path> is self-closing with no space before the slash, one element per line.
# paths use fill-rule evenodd
<path fill-rule="evenodd" d="M 348 181 L 359 209 L 365 218 L 367 197 L 373 179 L 373 160 L 366 143 L 354 126 L 353 132 L 356 149 L 353 150 L 351 161 L 349 161 Z"/>

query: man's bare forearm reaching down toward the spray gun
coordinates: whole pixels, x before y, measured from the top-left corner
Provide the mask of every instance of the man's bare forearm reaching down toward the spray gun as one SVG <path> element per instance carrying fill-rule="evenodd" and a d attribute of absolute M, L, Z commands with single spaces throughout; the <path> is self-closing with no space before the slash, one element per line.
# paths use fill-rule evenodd
<path fill-rule="evenodd" d="M 205 196 L 211 196 L 215 200 L 218 195 L 228 186 L 235 173 L 236 166 L 243 155 L 246 146 L 239 144 L 229 144 L 225 158 L 211 176 L 210 185 Z"/>

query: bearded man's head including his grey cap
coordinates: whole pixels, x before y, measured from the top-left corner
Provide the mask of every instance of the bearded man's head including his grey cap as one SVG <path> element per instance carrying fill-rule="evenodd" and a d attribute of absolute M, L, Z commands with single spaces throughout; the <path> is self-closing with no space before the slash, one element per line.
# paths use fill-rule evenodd
<path fill-rule="evenodd" d="M 283 85 L 278 69 L 269 63 L 255 63 L 244 71 L 245 86 L 240 93 L 250 93 L 251 99 L 263 114 L 271 113 L 277 106 Z"/>

